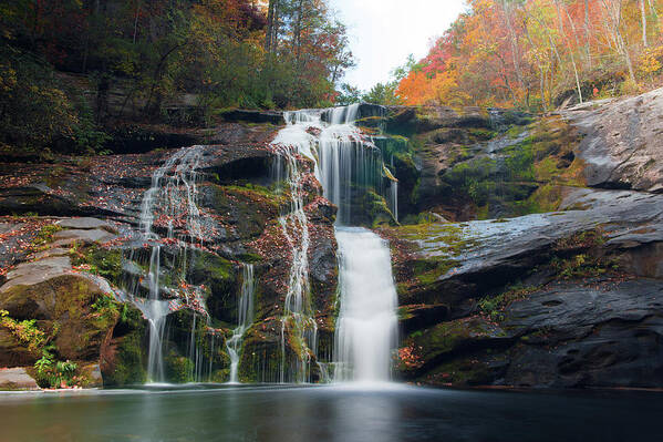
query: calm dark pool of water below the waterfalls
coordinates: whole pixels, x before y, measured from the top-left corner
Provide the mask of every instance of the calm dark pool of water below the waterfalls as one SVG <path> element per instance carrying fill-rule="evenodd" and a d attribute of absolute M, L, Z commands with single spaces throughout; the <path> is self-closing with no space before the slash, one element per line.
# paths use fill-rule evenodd
<path fill-rule="evenodd" d="M 344 387 L 0 395 L 0 441 L 661 441 L 663 393 Z"/>

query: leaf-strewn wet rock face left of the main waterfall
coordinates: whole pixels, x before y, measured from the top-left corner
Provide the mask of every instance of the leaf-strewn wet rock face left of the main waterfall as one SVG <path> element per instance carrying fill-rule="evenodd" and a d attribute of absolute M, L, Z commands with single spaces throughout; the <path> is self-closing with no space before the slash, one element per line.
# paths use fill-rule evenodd
<path fill-rule="evenodd" d="M 227 381 L 226 337 L 237 327 L 244 263 L 253 264 L 257 282 L 256 332 L 248 336 L 260 331 L 259 341 L 249 340 L 247 348 L 250 351 L 253 342 L 270 354 L 279 352 L 279 318 L 292 256 L 279 223 L 289 210 L 290 196 L 273 178 L 279 174 L 271 169 L 274 154 L 268 148 L 277 130 L 228 123 L 210 134 L 218 144 L 199 147 L 196 204 L 205 235 L 186 251 L 177 241 L 162 245 L 159 291 L 166 300 L 189 302 L 183 298 L 188 285 L 203 287 L 203 308 L 209 317 L 203 318 L 195 302 L 168 317 L 174 331 L 164 342 L 164 360 L 174 381 L 191 380 L 194 327 L 206 373 L 210 360 L 210 379 Z M 141 203 L 154 171 L 175 152 L 61 158 L 56 166 L 0 165 L 0 213 L 12 215 L 0 219 L 0 250 L 6 251 L 0 259 L 0 310 L 7 310 L 12 321 L 34 319 L 45 341 L 55 346 L 58 360 L 71 359 L 80 370 L 99 364 L 86 369 L 92 382 L 99 382 L 100 373 L 105 386 L 146 380 L 149 327 L 127 296 L 135 295 L 138 301 L 149 296 L 151 248 L 139 232 Z M 311 241 L 311 300 L 320 333 L 331 341 L 335 207 L 321 198 L 314 179 L 309 182 L 303 201 Z M 174 236 L 186 237 L 185 228 L 175 223 Z M 155 220 L 154 230 L 167 236 L 163 219 Z M 30 347 L 0 327 L 0 367 L 32 366 L 45 346 Z M 288 351 L 289 358 L 301 357 L 297 348 Z M 247 370 L 240 370 L 246 379 L 255 378 Z"/>

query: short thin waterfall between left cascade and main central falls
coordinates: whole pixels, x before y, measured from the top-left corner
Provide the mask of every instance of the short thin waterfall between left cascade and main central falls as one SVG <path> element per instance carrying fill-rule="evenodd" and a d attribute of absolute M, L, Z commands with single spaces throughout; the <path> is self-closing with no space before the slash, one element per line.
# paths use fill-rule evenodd
<path fill-rule="evenodd" d="M 253 322 L 253 292 L 256 281 L 253 279 L 253 265 L 245 264 L 242 267 L 241 291 L 239 296 L 237 311 L 237 328 L 232 330 L 232 337 L 226 341 L 228 356 L 230 356 L 230 381 L 229 383 L 239 383 L 237 368 L 239 366 L 239 351 L 241 349 L 241 338 Z"/>

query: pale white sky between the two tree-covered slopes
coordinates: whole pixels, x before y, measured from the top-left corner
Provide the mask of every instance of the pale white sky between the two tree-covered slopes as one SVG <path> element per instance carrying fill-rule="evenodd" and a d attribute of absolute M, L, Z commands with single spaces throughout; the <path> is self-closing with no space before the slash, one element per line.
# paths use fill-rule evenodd
<path fill-rule="evenodd" d="M 356 66 L 346 83 L 362 90 L 390 80 L 390 72 L 414 54 L 418 61 L 465 10 L 465 0 L 331 0 L 348 25 Z"/>

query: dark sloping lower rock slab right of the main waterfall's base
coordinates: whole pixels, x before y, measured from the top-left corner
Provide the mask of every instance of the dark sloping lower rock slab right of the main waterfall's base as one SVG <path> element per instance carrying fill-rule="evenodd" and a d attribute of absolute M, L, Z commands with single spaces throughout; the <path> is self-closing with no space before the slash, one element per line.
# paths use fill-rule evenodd
<path fill-rule="evenodd" d="M 383 230 L 404 379 L 661 387 L 663 199 L 573 189 L 562 205 L 584 209 Z M 433 321 L 421 305 L 445 308 Z"/>

